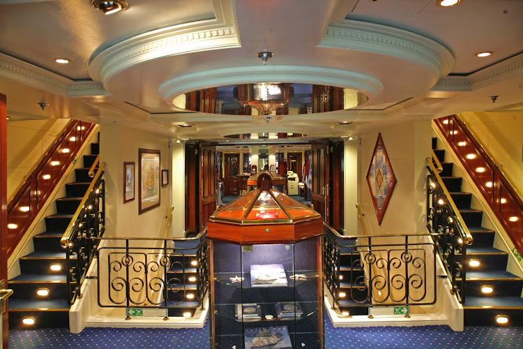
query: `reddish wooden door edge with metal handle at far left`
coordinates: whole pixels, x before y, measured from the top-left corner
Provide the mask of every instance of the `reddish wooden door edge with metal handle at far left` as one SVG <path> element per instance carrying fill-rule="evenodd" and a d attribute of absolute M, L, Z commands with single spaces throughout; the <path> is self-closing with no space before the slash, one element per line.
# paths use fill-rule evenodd
<path fill-rule="evenodd" d="M 0 280 L 7 287 L 7 98 L 0 94 Z M 3 295 L 0 290 L 0 295 Z M 7 301 L 5 313 L 0 314 L 0 330 L 3 348 L 8 348 L 8 313 Z"/>

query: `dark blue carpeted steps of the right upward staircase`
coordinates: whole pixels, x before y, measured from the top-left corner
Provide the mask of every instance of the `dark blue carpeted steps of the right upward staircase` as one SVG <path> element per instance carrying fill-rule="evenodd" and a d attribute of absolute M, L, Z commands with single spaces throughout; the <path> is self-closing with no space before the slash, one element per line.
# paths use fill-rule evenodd
<path fill-rule="evenodd" d="M 441 162 L 440 173 L 450 196 L 460 211 L 473 237 L 473 244 L 467 247 L 467 261 L 478 260 L 478 267 L 467 265 L 467 286 L 464 291 L 464 325 L 496 326 L 498 315 L 506 315 L 507 325 L 523 325 L 523 279 L 507 272 L 508 253 L 493 247 L 497 232 L 483 228 L 483 211 L 471 209 L 471 193 L 462 188 L 462 177 L 453 176 L 453 163 L 446 163 L 445 150 L 437 149 L 437 138 L 432 138 L 432 149 Z M 457 256 L 458 260 L 461 255 Z M 482 292 L 491 286 L 492 292 Z"/>

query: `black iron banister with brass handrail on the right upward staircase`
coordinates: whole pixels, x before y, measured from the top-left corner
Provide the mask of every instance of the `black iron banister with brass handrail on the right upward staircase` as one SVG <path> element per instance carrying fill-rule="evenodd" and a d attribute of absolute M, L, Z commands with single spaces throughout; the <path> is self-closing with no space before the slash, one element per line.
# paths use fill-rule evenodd
<path fill-rule="evenodd" d="M 467 287 L 467 245 L 473 243 L 473 237 L 439 175 L 441 168 L 432 151 L 432 158 L 427 158 L 427 229 L 434 233 L 434 243 L 450 278 L 452 292 L 463 303 Z"/>

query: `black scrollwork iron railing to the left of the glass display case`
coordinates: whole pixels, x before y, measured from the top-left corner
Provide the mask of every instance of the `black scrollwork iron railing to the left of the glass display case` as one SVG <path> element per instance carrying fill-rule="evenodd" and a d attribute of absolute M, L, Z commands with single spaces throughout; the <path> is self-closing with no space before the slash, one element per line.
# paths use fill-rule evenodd
<path fill-rule="evenodd" d="M 209 289 L 207 232 L 192 238 L 101 237 L 98 304 L 172 309 L 190 301 L 204 308 Z"/>

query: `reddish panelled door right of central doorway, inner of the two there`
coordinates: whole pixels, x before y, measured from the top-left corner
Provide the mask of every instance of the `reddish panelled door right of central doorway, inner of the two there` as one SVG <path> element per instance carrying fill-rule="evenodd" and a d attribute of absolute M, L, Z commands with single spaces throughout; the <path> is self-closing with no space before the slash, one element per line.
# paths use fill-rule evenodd
<path fill-rule="evenodd" d="M 328 143 L 312 144 L 312 188 L 310 201 L 314 210 L 321 214 L 324 221 L 329 222 L 329 168 L 328 168 Z"/>

